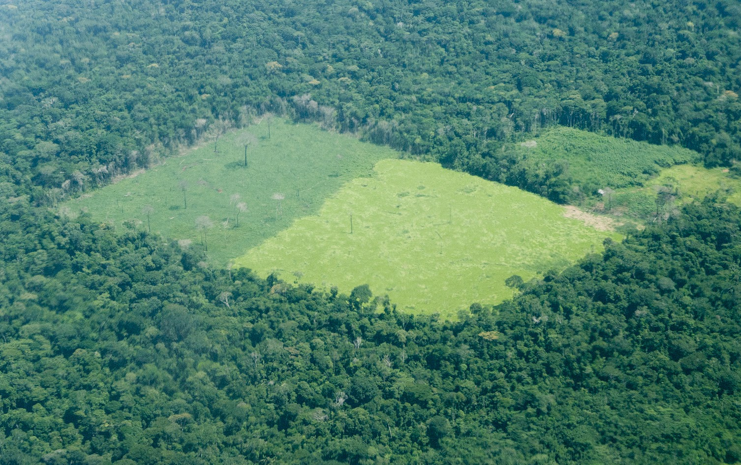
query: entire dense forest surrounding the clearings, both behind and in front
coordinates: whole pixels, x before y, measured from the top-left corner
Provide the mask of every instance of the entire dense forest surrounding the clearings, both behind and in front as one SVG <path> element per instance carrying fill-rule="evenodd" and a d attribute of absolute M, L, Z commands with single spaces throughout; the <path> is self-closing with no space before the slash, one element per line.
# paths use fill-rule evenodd
<path fill-rule="evenodd" d="M 455 321 L 48 209 L 267 113 L 559 202 L 564 167 L 511 142 L 562 125 L 730 168 L 740 22 L 734 0 L 0 1 L 0 464 L 740 463 L 721 197 Z"/>

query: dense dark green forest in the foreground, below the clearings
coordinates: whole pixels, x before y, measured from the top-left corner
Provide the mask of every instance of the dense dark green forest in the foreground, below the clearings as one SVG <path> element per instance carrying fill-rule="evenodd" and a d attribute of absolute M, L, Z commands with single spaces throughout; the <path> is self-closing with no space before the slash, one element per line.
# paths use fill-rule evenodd
<path fill-rule="evenodd" d="M 0 199 L 0 463 L 735 464 L 741 213 L 685 208 L 436 322 Z"/>

